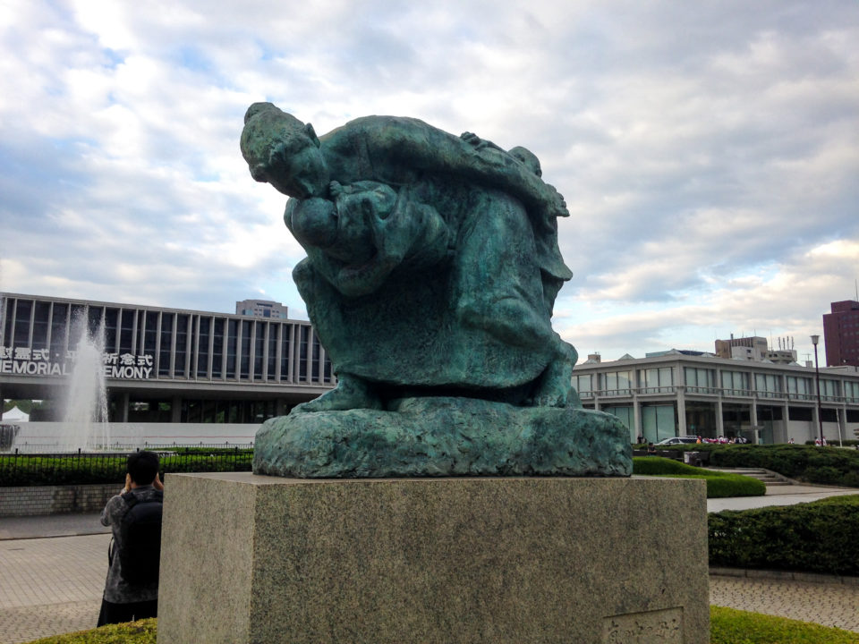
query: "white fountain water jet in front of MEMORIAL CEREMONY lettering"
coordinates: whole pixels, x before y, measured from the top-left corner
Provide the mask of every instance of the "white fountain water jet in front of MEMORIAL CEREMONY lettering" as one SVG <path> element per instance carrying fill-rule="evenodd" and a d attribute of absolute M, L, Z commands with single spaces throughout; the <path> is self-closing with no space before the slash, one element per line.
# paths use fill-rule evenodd
<path fill-rule="evenodd" d="M 90 332 L 87 318 L 72 321 L 75 353 L 65 393 L 61 451 L 92 451 L 110 445 L 105 386 L 105 327 Z"/>

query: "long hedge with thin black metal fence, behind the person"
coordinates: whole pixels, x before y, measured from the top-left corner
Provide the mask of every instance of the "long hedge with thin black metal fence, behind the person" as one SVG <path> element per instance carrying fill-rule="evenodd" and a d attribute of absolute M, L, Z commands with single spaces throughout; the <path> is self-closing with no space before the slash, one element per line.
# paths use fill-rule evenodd
<path fill-rule="evenodd" d="M 252 448 L 252 444 L 143 447 L 161 457 L 162 479 L 171 472 L 250 471 Z M 122 483 L 130 453 L 140 449 L 0 454 L 0 487 Z"/>

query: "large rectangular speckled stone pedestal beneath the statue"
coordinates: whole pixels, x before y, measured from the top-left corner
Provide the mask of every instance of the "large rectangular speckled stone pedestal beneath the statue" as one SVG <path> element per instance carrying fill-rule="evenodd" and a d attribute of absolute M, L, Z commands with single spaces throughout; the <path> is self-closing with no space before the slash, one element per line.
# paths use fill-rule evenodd
<path fill-rule="evenodd" d="M 169 474 L 158 641 L 709 641 L 683 479 Z"/>

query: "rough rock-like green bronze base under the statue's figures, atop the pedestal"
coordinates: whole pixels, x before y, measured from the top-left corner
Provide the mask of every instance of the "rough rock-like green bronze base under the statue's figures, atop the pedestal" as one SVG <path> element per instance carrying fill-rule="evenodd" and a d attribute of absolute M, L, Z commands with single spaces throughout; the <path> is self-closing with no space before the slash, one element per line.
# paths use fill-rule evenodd
<path fill-rule="evenodd" d="M 270 419 L 253 470 L 297 478 L 629 476 L 629 431 L 573 408 L 474 398 L 406 398 L 394 411 L 310 411 Z"/>

